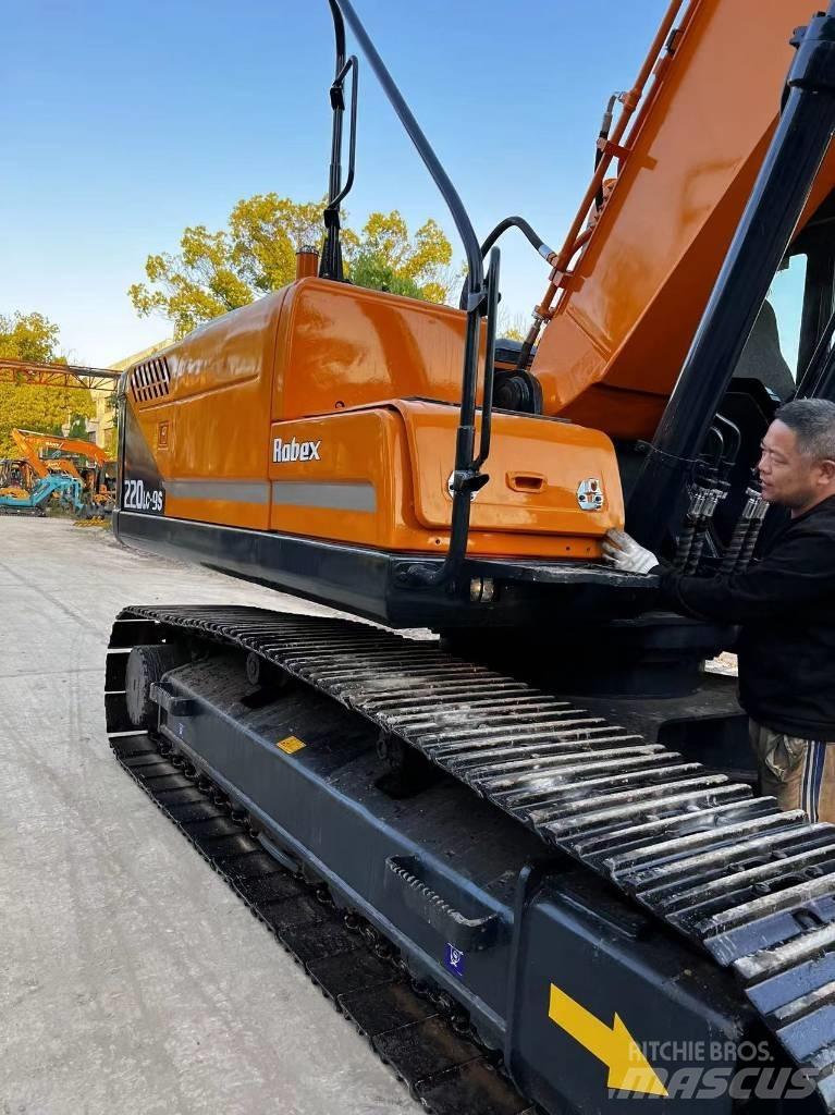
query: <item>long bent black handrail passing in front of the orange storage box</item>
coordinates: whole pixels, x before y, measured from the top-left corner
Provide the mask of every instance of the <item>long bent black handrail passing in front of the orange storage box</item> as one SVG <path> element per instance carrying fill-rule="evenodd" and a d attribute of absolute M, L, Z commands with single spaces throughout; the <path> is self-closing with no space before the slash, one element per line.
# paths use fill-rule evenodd
<path fill-rule="evenodd" d="M 484 279 L 484 263 L 478 237 L 470 223 L 464 203 L 458 196 L 458 192 L 453 185 L 448 174 L 441 166 L 437 155 L 431 148 L 429 140 L 424 135 L 419 124 L 415 119 L 411 109 L 406 104 L 402 94 L 397 88 L 394 78 L 386 69 L 386 66 L 377 52 L 377 48 L 371 42 L 368 33 L 359 20 L 357 12 L 350 0 L 328 0 L 333 13 L 333 25 L 337 37 L 337 75 L 344 67 L 344 22 L 348 23 L 355 38 L 359 42 L 362 54 L 366 56 L 369 66 L 377 76 L 377 80 L 382 86 L 382 91 L 389 99 L 391 107 L 397 114 L 397 118 L 402 124 L 407 135 L 411 139 L 415 148 L 428 169 L 433 181 L 440 191 L 440 195 L 446 202 L 450 216 L 458 230 L 458 235 L 464 244 L 464 253 L 467 260 L 467 298 L 466 298 L 466 333 L 464 343 L 464 368 L 462 371 L 462 401 L 458 430 L 455 442 L 455 466 L 453 468 L 453 513 L 452 527 L 449 534 L 449 549 L 440 565 L 427 568 L 426 565 L 409 565 L 400 573 L 400 580 L 406 584 L 414 585 L 437 585 L 452 580 L 460 568 L 467 552 L 467 539 L 469 535 L 469 505 L 475 492 L 483 487 L 489 476 L 482 473 L 480 466 L 486 459 L 485 449 L 489 449 L 491 423 L 489 414 L 492 409 L 492 398 L 487 397 L 486 386 L 484 404 L 482 410 L 482 452 L 475 457 L 475 419 L 476 400 L 478 396 L 478 341 L 480 336 L 482 318 L 488 313 L 487 287 Z M 337 146 L 337 119 L 334 114 L 334 148 Z M 339 146 L 341 148 L 341 118 L 339 123 Z M 337 158 L 338 163 L 338 158 Z M 333 185 L 333 182 L 331 183 Z M 338 191 L 337 191 L 338 192 Z M 333 195 L 333 194 L 331 194 Z M 339 213 L 331 213 L 328 217 L 338 227 Z M 330 229 L 329 229 L 330 234 Z M 498 280 L 498 251 L 495 250 L 495 278 Z M 321 273 L 321 272 L 320 272 Z M 498 301 L 498 290 L 491 300 L 494 312 L 489 314 L 494 319 L 493 336 L 495 336 L 495 306 Z M 488 321 L 488 331 L 489 331 Z M 492 378 L 493 353 L 488 351 L 485 361 L 485 376 L 489 371 Z M 487 419 L 487 430 L 485 434 L 484 421 Z"/>

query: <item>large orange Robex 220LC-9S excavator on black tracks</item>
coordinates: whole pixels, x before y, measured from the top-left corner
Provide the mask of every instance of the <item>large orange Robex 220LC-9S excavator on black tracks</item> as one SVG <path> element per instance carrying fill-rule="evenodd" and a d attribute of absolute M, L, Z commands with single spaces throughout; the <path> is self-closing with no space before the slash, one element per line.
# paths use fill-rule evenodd
<path fill-rule="evenodd" d="M 755 793 L 735 630 L 601 556 L 745 569 L 775 408 L 835 397 L 835 3 L 672 0 L 559 249 L 479 241 L 329 6 L 321 252 L 123 375 L 114 530 L 336 611 L 126 608 L 115 756 L 438 1115 L 835 1112 L 835 828 Z M 360 55 L 458 307 L 343 266 Z M 550 269 L 522 342 L 509 231 Z"/>

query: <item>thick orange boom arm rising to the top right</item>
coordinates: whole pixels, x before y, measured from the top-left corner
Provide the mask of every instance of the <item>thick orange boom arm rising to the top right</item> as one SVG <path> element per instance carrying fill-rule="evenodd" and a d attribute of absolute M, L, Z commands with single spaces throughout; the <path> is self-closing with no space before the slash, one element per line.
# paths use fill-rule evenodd
<path fill-rule="evenodd" d="M 701 0 L 534 360 L 545 410 L 650 437 L 777 119 L 806 0 Z M 824 175 L 832 181 L 831 165 Z"/>

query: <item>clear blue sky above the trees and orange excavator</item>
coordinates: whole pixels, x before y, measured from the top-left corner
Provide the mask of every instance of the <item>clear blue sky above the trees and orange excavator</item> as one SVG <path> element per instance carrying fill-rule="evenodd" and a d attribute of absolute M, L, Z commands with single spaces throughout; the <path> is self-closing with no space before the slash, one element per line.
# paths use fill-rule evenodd
<path fill-rule="evenodd" d="M 605 99 L 631 85 L 666 0 L 355 4 L 479 236 L 518 213 L 559 246 Z M 167 336 L 126 291 L 185 225 L 221 227 L 254 193 L 324 193 L 326 0 L 35 0 L 3 25 L 0 312 L 46 313 L 70 359 L 107 365 Z M 434 216 L 454 239 L 368 66 L 347 207 L 355 225 L 373 210 L 412 229 Z M 527 314 L 546 279 L 521 237 L 503 237 L 511 313 Z"/>

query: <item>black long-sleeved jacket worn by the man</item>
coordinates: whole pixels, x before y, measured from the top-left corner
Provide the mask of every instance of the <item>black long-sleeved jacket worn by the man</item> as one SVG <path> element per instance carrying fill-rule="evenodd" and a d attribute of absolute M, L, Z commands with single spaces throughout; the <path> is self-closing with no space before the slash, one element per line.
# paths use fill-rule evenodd
<path fill-rule="evenodd" d="M 739 700 L 753 719 L 835 743 L 835 496 L 787 518 L 744 573 L 661 572 L 676 611 L 741 624 Z"/>

